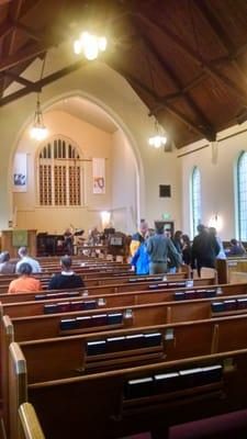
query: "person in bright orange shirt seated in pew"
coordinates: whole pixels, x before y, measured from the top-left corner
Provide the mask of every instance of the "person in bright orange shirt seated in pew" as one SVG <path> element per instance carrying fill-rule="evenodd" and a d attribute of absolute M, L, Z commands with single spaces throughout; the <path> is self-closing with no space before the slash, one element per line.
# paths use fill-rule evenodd
<path fill-rule="evenodd" d="M 41 291 L 42 284 L 38 279 L 33 278 L 32 266 L 29 262 L 23 262 L 20 266 L 20 277 L 10 282 L 8 293 L 21 293 L 26 291 Z"/>

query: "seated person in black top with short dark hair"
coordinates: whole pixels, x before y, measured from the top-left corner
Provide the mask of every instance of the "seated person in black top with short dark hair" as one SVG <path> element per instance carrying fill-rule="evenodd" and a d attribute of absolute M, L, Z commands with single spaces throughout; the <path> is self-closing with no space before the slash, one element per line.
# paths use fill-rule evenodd
<path fill-rule="evenodd" d="M 48 290 L 71 290 L 85 286 L 80 275 L 71 270 L 72 259 L 63 256 L 60 259 L 61 272 L 54 274 L 48 283 Z"/>

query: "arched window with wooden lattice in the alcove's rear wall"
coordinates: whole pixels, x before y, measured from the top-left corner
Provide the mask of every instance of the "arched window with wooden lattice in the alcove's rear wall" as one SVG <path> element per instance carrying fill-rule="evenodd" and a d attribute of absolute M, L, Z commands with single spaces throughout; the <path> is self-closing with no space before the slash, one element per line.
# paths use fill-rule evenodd
<path fill-rule="evenodd" d="M 67 139 L 48 142 L 38 155 L 40 205 L 82 204 L 81 161 L 78 148 Z"/>

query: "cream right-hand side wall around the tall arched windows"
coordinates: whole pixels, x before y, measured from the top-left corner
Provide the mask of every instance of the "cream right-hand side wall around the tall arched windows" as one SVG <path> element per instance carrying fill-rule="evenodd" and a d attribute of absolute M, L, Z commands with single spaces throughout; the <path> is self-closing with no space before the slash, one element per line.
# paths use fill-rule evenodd
<path fill-rule="evenodd" d="M 181 164 L 182 229 L 190 234 L 190 176 L 194 166 L 201 171 L 202 223 L 217 214 L 223 221 L 220 236 L 228 240 L 236 236 L 235 169 L 237 158 L 247 150 L 247 124 L 218 133 L 217 161 L 212 162 L 212 146 L 206 140 L 178 151 Z M 206 146 L 203 149 L 201 147 Z M 198 149 L 198 150 L 197 150 Z M 181 157 L 181 155 L 189 153 Z"/>

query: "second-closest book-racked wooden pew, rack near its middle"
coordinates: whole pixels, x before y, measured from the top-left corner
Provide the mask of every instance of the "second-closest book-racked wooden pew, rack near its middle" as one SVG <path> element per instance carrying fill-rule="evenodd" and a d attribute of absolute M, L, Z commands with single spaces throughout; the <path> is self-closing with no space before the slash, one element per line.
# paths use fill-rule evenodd
<path fill-rule="evenodd" d="M 8 316 L 4 316 L 3 337 L 4 327 L 8 328 L 11 324 Z M 14 340 L 14 331 L 12 329 L 12 338 L 4 345 L 3 361 L 7 361 L 8 342 Z M 137 339 L 132 337 L 134 335 L 138 335 Z M 150 335 L 153 340 L 148 339 Z M 100 333 L 47 339 L 42 338 L 41 334 L 36 340 L 23 339 L 21 346 L 30 365 L 30 380 L 71 378 L 93 370 L 150 362 L 154 359 L 164 362 L 224 352 L 227 349 L 247 348 L 247 316 L 146 325 L 137 328 L 113 328 Z"/>

